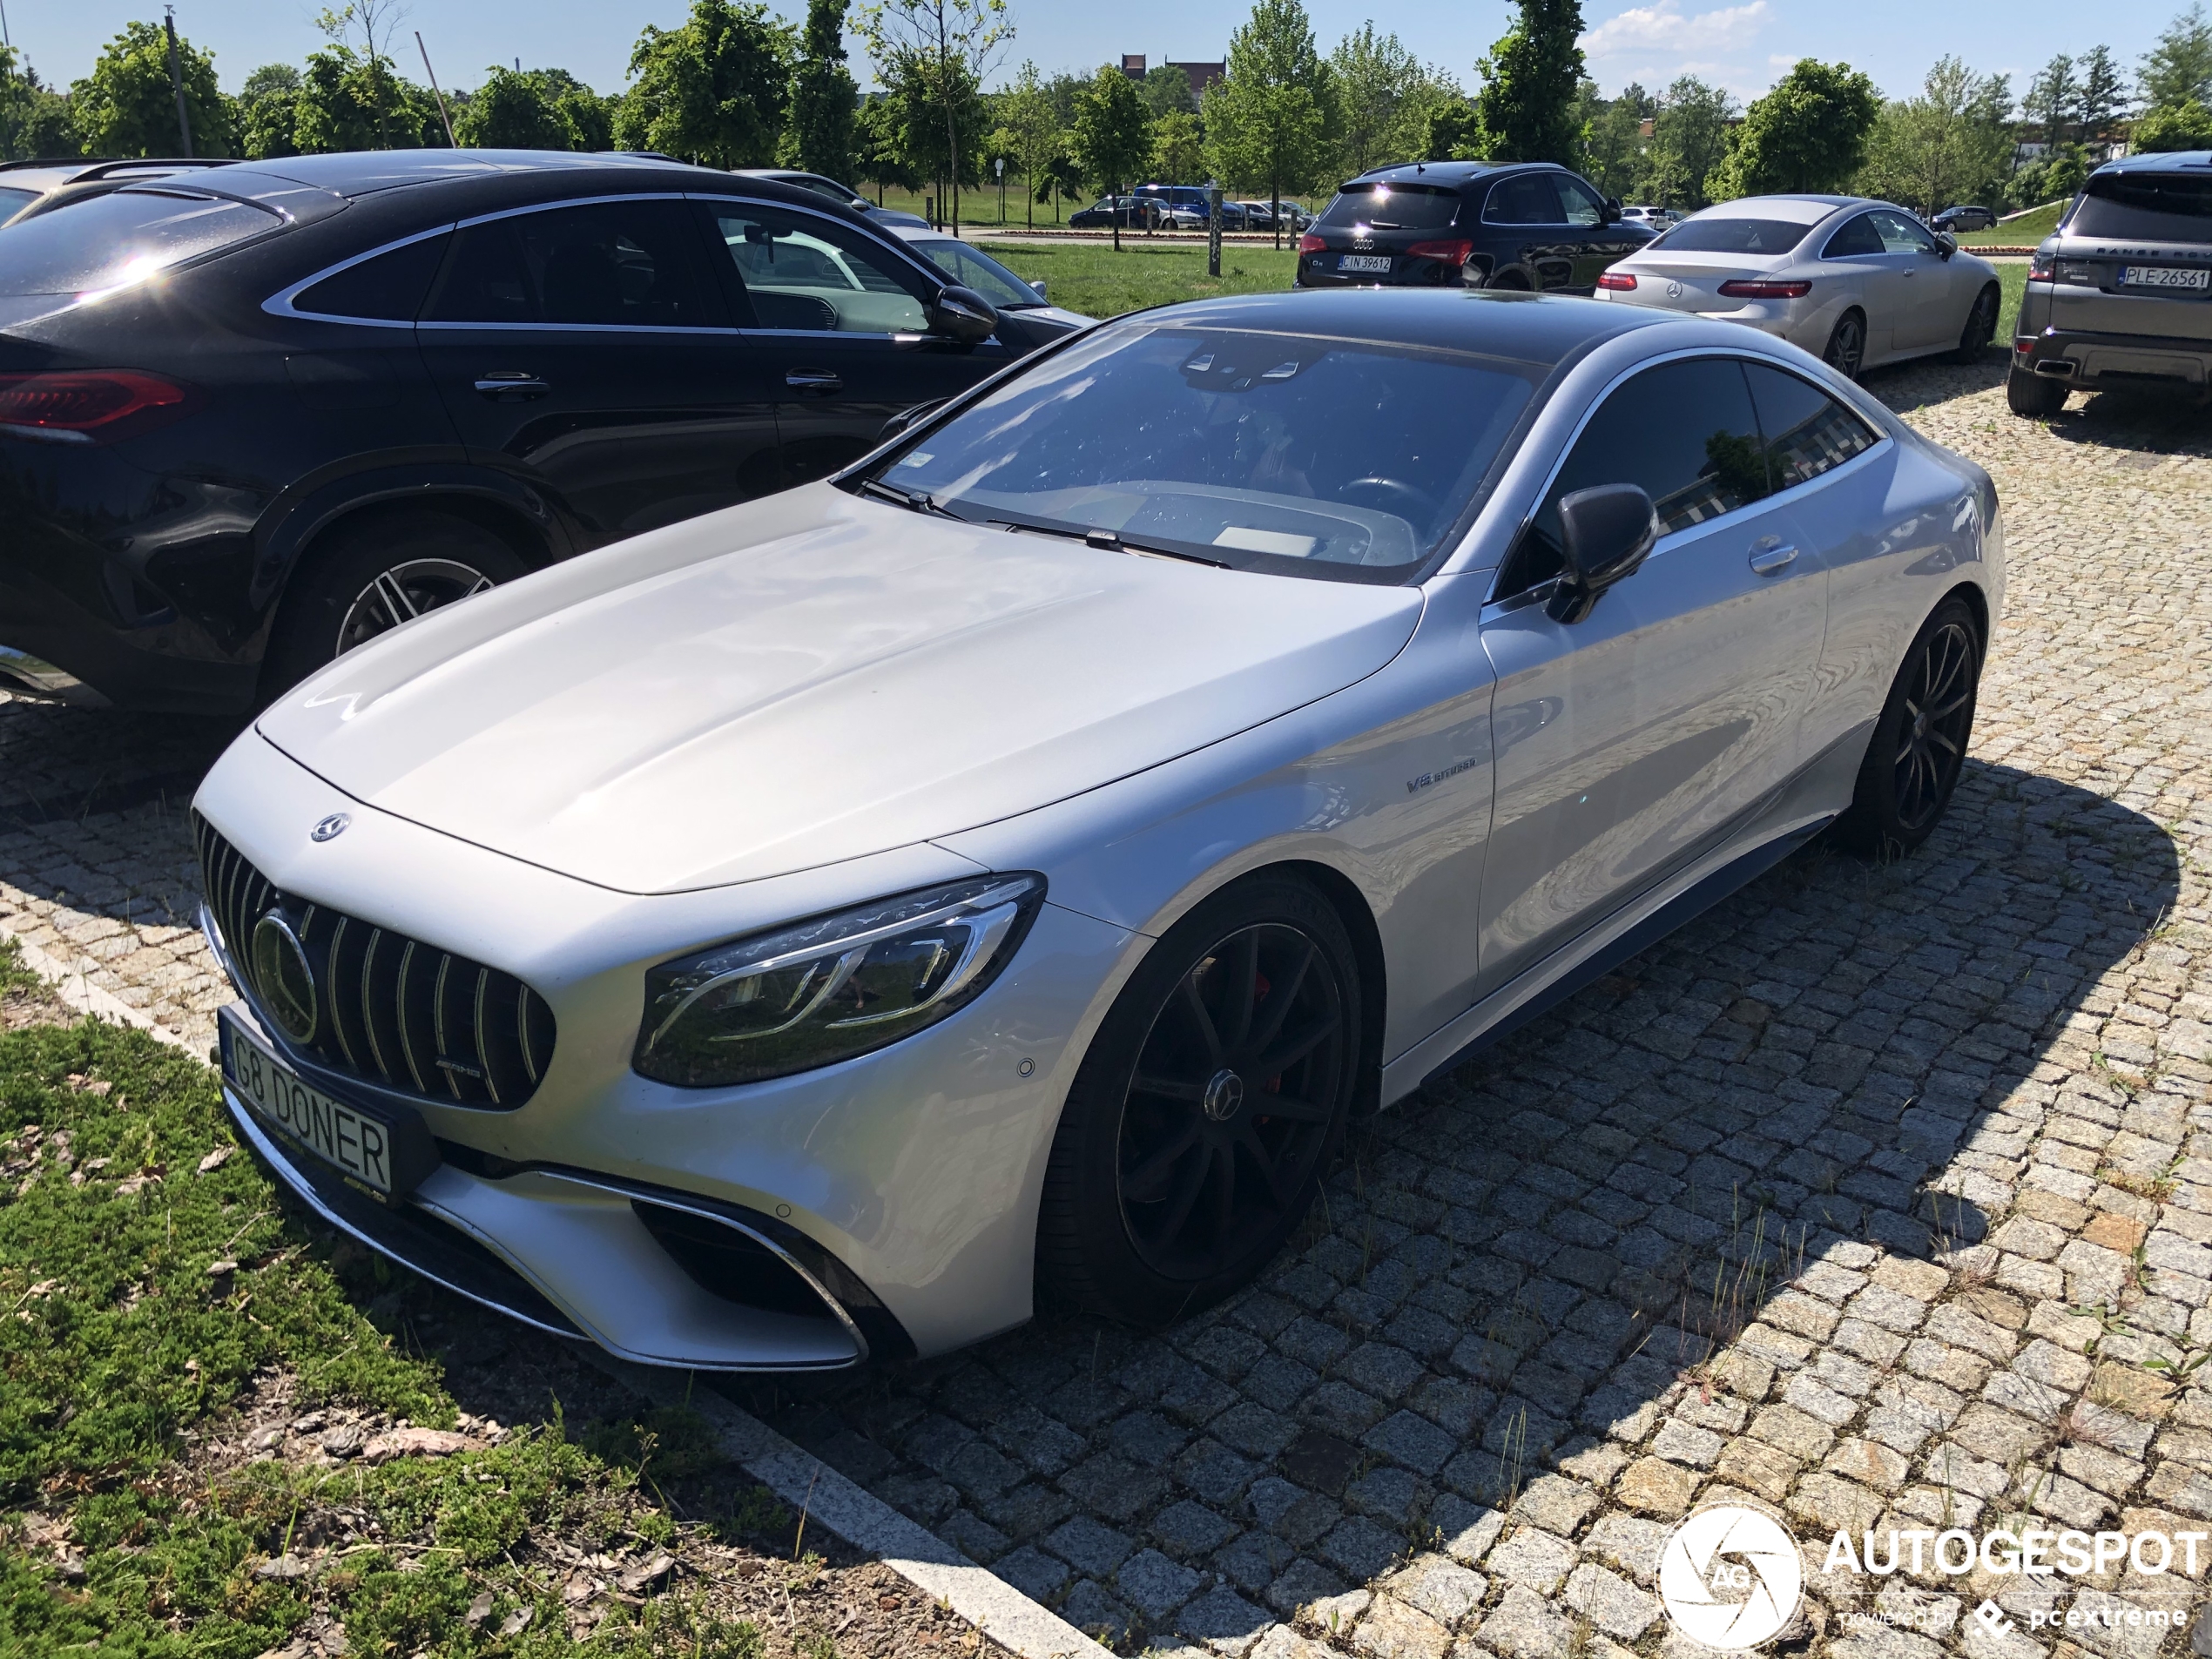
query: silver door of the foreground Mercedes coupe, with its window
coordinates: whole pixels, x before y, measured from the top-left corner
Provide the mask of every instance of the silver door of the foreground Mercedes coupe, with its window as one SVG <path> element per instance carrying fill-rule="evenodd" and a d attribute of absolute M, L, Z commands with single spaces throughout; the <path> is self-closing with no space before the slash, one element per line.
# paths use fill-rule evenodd
<path fill-rule="evenodd" d="M 1588 617 L 1553 622 L 1557 502 L 1619 482 L 1650 493 L 1663 533 Z M 1546 487 L 1482 617 L 1498 796 L 1480 993 L 1719 845 L 1796 770 L 1825 588 L 1767 495 L 1725 356 L 1619 383 Z"/>

